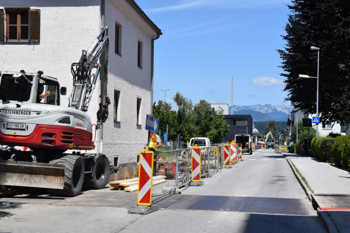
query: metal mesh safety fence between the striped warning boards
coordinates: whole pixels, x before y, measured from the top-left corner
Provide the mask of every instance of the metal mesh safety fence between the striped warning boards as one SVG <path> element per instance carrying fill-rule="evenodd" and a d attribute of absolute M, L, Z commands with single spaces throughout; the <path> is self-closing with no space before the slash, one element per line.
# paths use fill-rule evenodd
<path fill-rule="evenodd" d="M 223 144 L 200 148 L 201 177 L 217 172 L 223 165 Z M 191 148 L 155 152 L 152 196 L 161 196 L 189 185 L 192 177 Z"/>

